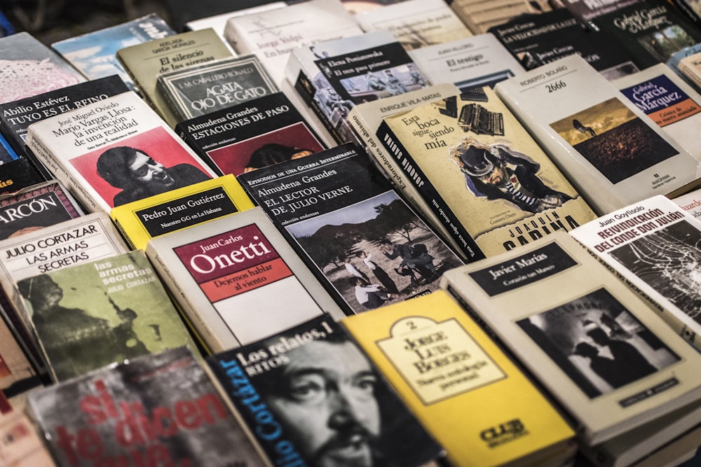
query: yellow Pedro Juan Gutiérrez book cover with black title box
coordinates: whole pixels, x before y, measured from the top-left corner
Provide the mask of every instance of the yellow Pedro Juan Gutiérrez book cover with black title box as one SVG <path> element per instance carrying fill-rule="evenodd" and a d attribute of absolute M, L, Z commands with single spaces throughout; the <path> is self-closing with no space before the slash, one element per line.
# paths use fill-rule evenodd
<path fill-rule="evenodd" d="M 132 249 L 150 239 L 253 207 L 233 175 L 122 204 L 109 213 Z"/>

